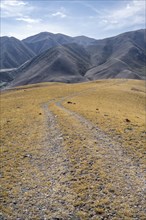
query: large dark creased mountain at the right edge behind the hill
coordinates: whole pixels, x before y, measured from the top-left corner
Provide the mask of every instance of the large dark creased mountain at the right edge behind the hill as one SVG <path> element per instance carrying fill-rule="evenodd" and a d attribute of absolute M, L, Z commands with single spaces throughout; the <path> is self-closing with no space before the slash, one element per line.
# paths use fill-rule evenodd
<path fill-rule="evenodd" d="M 93 68 L 85 76 L 90 80 L 106 78 L 144 79 L 146 68 L 145 30 L 97 40 L 88 47 Z"/>

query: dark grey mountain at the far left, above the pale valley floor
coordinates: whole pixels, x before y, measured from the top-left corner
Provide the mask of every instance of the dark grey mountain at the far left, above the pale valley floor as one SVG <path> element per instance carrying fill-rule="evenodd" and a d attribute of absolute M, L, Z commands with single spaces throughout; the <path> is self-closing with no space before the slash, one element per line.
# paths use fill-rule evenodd
<path fill-rule="evenodd" d="M 18 67 L 35 56 L 30 48 L 14 37 L 1 37 L 0 51 L 0 69 Z"/>

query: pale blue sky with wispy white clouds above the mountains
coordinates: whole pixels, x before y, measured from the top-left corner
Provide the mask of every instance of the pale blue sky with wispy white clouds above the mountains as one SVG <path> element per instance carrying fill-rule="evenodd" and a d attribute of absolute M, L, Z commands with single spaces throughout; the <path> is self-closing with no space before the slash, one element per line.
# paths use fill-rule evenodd
<path fill-rule="evenodd" d="M 40 32 L 103 39 L 145 28 L 144 0 L 1 0 L 0 34 Z"/>

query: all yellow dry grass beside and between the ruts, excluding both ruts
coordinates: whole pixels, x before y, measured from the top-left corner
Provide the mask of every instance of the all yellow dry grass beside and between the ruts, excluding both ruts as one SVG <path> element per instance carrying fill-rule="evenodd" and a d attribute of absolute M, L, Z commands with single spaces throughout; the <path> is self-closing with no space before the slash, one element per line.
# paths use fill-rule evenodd
<path fill-rule="evenodd" d="M 75 85 L 45 83 L 4 92 L 1 94 L 0 175 L 1 210 L 7 219 L 17 215 L 15 200 L 21 194 L 22 184 L 26 187 L 29 185 L 31 189 L 29 194 L 27 190 L 24 193 L 24 202 L 27 203 L 37 187 L 34 176 L 41 180 L 45 178 L 29 159 L 31 156 L 41 157 L 40 143 L 44 139 L 46 126 L 42 104 L 70 95 L 72 97 L 63 102 L 66 108 L 91 120 L 113 139 L 118 137 L 133 160 L 140 160 L 143 164 L 146 133 L 143 81 L 101 80 Z M 70 175 L 66 178 L 76 194 L 73 201 L 76 216 L 83 220 L 98 219 L 97 216 L 100 219 L 109 209 L 113 212 L 116 210 L 113 219 L 132 219 L 133 207 L 129 207 L 124 199 L 121 204 L 121 191 L 115 192 L 112 181 L 109 182 L 102 152 L 97 158 L 99 149 L 93 141 L 92 132 L 89 133 L 73 115 L 56 106 L 55 102 L 50 104 L 50 109 L 57 115 L 71 164 Z M 49 182 L 42 181 L 42 187 L 49 186 Z M 21 204 L 19 209 L 23 209 Z M 32 216 L 39 219 L 35 211 L 32 212 Z M 143 213 L 139 216 L 144 219 Z"/>

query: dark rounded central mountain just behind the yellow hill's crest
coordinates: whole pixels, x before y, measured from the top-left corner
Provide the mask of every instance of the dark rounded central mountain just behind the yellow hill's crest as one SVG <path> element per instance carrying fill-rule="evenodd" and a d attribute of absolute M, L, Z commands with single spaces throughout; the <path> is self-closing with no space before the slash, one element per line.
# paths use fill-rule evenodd
<path fill-rule="evenodd" d="M 68 44 L 53 47 L 18 68 L 18 76 L 12 85 L 56 81 L 83 82 L 84 74 L 89 68 L 90 56 L 82 46 Z"/>

